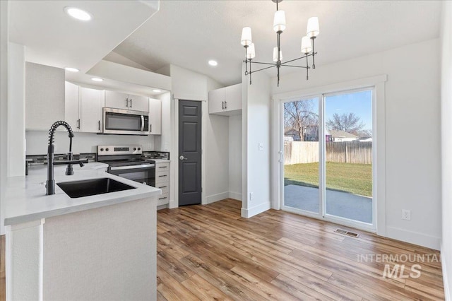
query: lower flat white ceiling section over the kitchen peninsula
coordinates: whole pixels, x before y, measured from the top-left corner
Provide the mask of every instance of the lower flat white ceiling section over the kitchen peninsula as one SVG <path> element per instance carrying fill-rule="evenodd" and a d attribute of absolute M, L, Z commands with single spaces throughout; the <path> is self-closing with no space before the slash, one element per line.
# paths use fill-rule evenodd
<path fill-rule="evenodd" d="M 9 40 L 25 45 L 25 60 L 85 73 L 159 9 L 145 1 L 9 1 Z M 66 6 L 90 13 L 69 17 Z M 67 71 L 66 71 L 67 72 Z"/>

